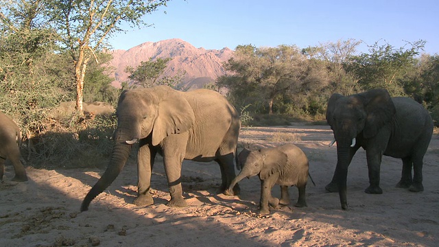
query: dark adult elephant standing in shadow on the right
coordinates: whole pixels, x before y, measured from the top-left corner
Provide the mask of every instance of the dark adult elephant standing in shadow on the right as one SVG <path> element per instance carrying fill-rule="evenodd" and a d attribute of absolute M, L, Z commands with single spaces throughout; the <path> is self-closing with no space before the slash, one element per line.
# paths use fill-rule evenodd
<path fill-rule="evenodd" d="M 348 208 L 348 166 L 360 147 L 366 150 L 368 163 L 370 185 L 366 193 L 383 193 L 379 187 L 383 155 L 403 160 L 401 180 L 396 187 L 414 192 L 424 190 L 423 157 L 434 126 L 429 113 L 418 102 L 407 97 L 392 98 L 384 89 L 346 97 L 335 93 L 328 102 L 327 121 L 337 141 L 337 167 L 326 189 L 339 191 L 342 209 Z"/>

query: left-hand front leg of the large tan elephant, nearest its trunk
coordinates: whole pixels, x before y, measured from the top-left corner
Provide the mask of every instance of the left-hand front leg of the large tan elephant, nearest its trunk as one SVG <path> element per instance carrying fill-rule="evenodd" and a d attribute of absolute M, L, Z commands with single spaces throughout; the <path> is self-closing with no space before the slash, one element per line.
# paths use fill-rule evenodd
<path fill-rule="evenodd" d="M 140 143 L 137 155 L 137 174 L 138 174 L 138 195 L 134 199 L 134 204 L 140 207 L 154 204 L 151 196 L 151 174 L 154 166 L 156 152 L 145 143 Z"/>

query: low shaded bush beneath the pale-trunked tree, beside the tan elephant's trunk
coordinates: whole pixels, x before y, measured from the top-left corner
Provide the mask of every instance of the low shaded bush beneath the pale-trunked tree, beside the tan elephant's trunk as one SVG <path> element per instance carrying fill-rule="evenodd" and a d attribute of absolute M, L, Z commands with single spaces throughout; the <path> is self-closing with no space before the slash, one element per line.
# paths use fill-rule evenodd
<path fill-rule="evenodd" d="M 104 167 L 112 150 L 113 115 L 73 114 L 47 119 L 45 130 L 29 139 L 23 156 L 37 168 Z"/>

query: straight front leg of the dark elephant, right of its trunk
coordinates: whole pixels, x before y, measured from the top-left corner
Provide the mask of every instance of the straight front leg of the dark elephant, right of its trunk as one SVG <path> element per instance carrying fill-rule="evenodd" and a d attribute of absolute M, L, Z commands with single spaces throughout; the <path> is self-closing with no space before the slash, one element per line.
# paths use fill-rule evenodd
<path fill-rule="evenodd" d="M 381 152 L 366 151 L 369 172 L 369 187 L 364 192 L 381 194 L 383 190 L 379 187 L 379 173 L 381 167 Z"/>

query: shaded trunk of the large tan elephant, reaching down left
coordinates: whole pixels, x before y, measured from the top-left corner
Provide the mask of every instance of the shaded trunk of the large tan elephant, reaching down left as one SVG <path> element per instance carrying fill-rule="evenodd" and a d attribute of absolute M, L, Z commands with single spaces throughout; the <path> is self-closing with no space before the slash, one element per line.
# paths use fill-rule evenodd
<path fill-rule="evenodd" d="M 110 164 L 105 170 L 104 174 L 99 178 L 95 186 L 88 191 L 86 197 L 82 201 L 81 212 L 88 210 L 88 205 L 90 202 L 102 193 L 104 189 L 111 185 L 111 183 L 119 176 L 123 166 L 128 161 L 128 156 L 130 155 L 132 145 L 126 143 L 117 143 L 112 150 L 112 156 L 110 159 Z"/>

